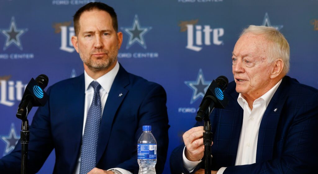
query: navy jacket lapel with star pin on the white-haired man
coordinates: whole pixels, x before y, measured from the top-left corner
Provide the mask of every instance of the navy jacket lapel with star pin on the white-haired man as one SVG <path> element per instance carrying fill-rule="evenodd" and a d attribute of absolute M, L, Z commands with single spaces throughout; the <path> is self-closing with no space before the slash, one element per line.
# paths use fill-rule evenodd
<path fill-rule="evenodd" d="M 257 141 L 256 163 L 272 159 L 277 125 L 280 113 L 286 101 L 287 76 L 283 78 L 280 86 L 273 95 L 259 126 Z"/>

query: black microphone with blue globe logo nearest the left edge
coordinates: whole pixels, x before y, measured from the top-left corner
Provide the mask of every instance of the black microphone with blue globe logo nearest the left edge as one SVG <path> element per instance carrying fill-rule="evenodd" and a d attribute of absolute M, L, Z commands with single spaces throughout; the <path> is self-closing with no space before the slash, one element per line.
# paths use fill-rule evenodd
<path fill-rule="evenodd" d="M 41 74 L 35 80 L 32 78 L 25 88 L 21 103 L 17 110 L 17 118 L 26 120 L 33 106 L 44 106 L 48 96 L 44 89 L 49 83 L 49 78 Z"/>

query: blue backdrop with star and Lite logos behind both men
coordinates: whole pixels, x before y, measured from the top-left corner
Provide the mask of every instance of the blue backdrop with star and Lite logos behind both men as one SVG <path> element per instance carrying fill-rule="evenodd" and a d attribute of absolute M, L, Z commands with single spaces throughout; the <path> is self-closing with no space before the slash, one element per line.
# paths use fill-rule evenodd
<path fill-rule="evenodd" d="M 24 88 L 39 74 L 49 85 L 84 72 L 71 44 L 73 15 L 93 0 L 0 0 L 0 155 L 20 138 Z M 193 127 L 211 81 L 233 80 L 232 51 L 243 28 L 273 26 L 290 44 L 289 76 L 318 88 L 318 0 L 104 0 L 118 15 L 118 61 L 167 92 L 169 150 Z M 31 110 L 29 121 L 37 108 Z M 124 143 L 124 142 L 123 142 Z M 20 146 L 18 144 L 17 146 Z M 54 151 L 39 173 L 52 173 Z"/>

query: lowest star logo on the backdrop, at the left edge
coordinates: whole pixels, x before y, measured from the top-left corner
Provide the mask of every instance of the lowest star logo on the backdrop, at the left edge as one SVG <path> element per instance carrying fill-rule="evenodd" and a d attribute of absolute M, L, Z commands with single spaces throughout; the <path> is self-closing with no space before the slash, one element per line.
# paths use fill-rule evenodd
<path fill-rule="evenodd" d="M 10 153 L 14 147 L 16 146 L 18 140 L 20 139 L 20 136 L 17 136 L 16 129 L 14 127 L 14 123 L 11 124 L 10 132 L 8 136 L 1 136 L 1 140 L 6 144 L 3 152 L 3 156 Z"/>

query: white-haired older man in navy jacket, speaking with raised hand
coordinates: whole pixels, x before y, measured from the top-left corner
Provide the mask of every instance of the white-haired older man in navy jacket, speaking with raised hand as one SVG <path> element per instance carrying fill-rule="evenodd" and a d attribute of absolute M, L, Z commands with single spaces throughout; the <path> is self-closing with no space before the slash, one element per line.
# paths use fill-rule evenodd
<path fill-rule="evenodd" d="M 318 90 L 286 76 L 289 45 L 272 27 L 244 29 L 232 52 L 225 109 L 210 115 L 211 173 L 314 173 Z M 183 134 L 171 173 L 204 173 L 203 127 Z"/>

